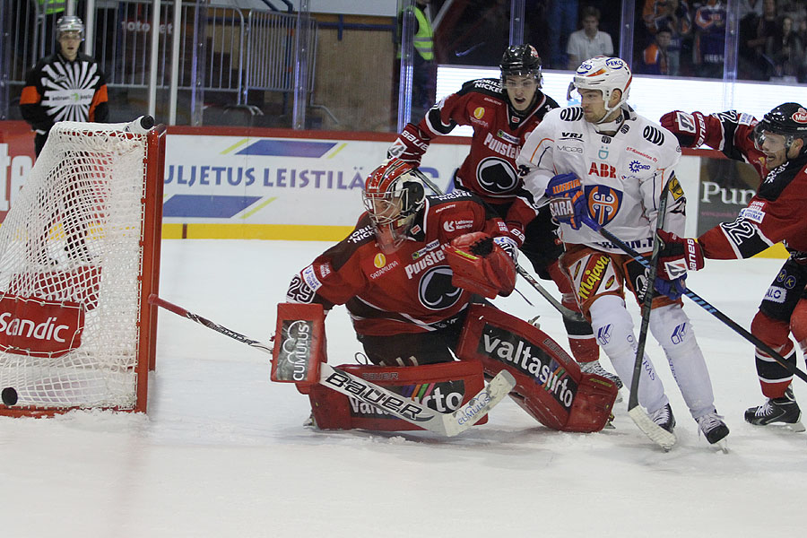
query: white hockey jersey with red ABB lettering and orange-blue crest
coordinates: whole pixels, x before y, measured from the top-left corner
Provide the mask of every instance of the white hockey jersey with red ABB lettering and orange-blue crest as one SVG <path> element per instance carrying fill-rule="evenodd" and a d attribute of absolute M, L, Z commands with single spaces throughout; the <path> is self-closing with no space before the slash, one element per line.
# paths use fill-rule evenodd
<path fill-rule="evenodd" d="M 653 249 L 658 202 L 681 147 L 664 127 L 623 106 L 614 136 L 600 134 L 583 118 L 580 107 L 555 108 L 535 127 L 516 158 L 525 187 L 536 204 L 545 204 L 550 179 L 574 172 L 583 186 L 594 221 L 640 253 Z M 664 230 L 683 235 L 686 215 L 681 187 L 673 180 Z M 574 230 L 560 225 L 564 243 L 622 253 L 585 224 Z"/>

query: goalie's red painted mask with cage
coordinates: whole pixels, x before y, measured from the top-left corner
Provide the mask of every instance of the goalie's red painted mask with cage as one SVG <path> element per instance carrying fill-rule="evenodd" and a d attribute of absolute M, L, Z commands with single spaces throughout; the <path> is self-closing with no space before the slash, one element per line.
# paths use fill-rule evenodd
<path fill-rule="evenodd" d="M 425 204 L 423 182 L 412 170 L 411 164 L 399 159 L 386 161 L 373 170 L 364 187 L 364 207 L 385 254 L 401 246 Z"/>

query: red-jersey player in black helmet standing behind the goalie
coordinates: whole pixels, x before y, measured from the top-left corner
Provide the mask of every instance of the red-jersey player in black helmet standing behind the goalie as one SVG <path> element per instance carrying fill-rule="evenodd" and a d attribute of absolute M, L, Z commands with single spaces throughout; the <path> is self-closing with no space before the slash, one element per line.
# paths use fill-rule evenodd
<path fill-rule="evenodd" d="M 472 126 L 471 151 L 456 170 L 454 186 L 473 192 L 508 225 L 508 233 L 530 260 L 535 273 L 555 282 L 562 304 L 579 312 L 568 278 L 560 270 L 563 252 L 557 224 L 549 209 L 540 210 L 525 190 L 516 169 L 516 155 L 544 114 L 558 103 L 541 91 L 541 58 L 531 45 L 508 48 L 499 64 L 500 79 L 465 82 L 460 91 L 440 100 L 418 125 L 409 124 L 387 154 L 418 166 L 431 140 L 449 134 L 456 126 Z M 572 355 L 581 368 L 619 377 L 600 366 L 599 349 L 591 325 L 564 318 Z"/>

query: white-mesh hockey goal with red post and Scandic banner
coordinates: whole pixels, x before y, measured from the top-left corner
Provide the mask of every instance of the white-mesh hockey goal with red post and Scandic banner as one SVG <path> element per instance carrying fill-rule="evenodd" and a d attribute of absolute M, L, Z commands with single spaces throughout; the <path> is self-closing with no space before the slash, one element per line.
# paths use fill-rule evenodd
<path fill-rule="evenodd" d="M 57 123 L 0 226 L 0 414 L 146 411 L 165 127 L 135 122 Z"/>

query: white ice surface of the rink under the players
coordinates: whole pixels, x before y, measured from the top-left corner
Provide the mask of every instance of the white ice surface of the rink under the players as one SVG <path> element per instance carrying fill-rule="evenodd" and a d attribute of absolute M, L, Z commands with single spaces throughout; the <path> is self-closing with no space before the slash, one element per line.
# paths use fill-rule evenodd
<path fill-rule="evenodd" d="M 268 342 L 291 275 L 326 246 L 164 241 L 161 296 Z M 748 327 L 781 264 L 709 261 L 690 288 Z M 518 289 L 534 307 L 516 294 L 499 307 L 541 314 L 542 329 L 567 347 L 560 317 L 525 282 Z M 509 400 L 456 438 L 308 430 L 308 399 L 269 382 L 267 355 L 161 311 L 148 416 L 0 418 L 0 536 L 800 534 L 807 434 L 742 421 L 763 401 L 751 344 L 690 301 L 686 310 L 732 430 L 728 454 L 699 437 L 652 337 L 678 420 L 669 453 L 630 421 L 627 395 L 616 429 L 595 434 L 547 430 Z M 327 338 L 332 364 L 354 362 L 360 346 L 344 308 L 328 317 Z M 807 388 L 794 386 L 807 406 Z"/>

